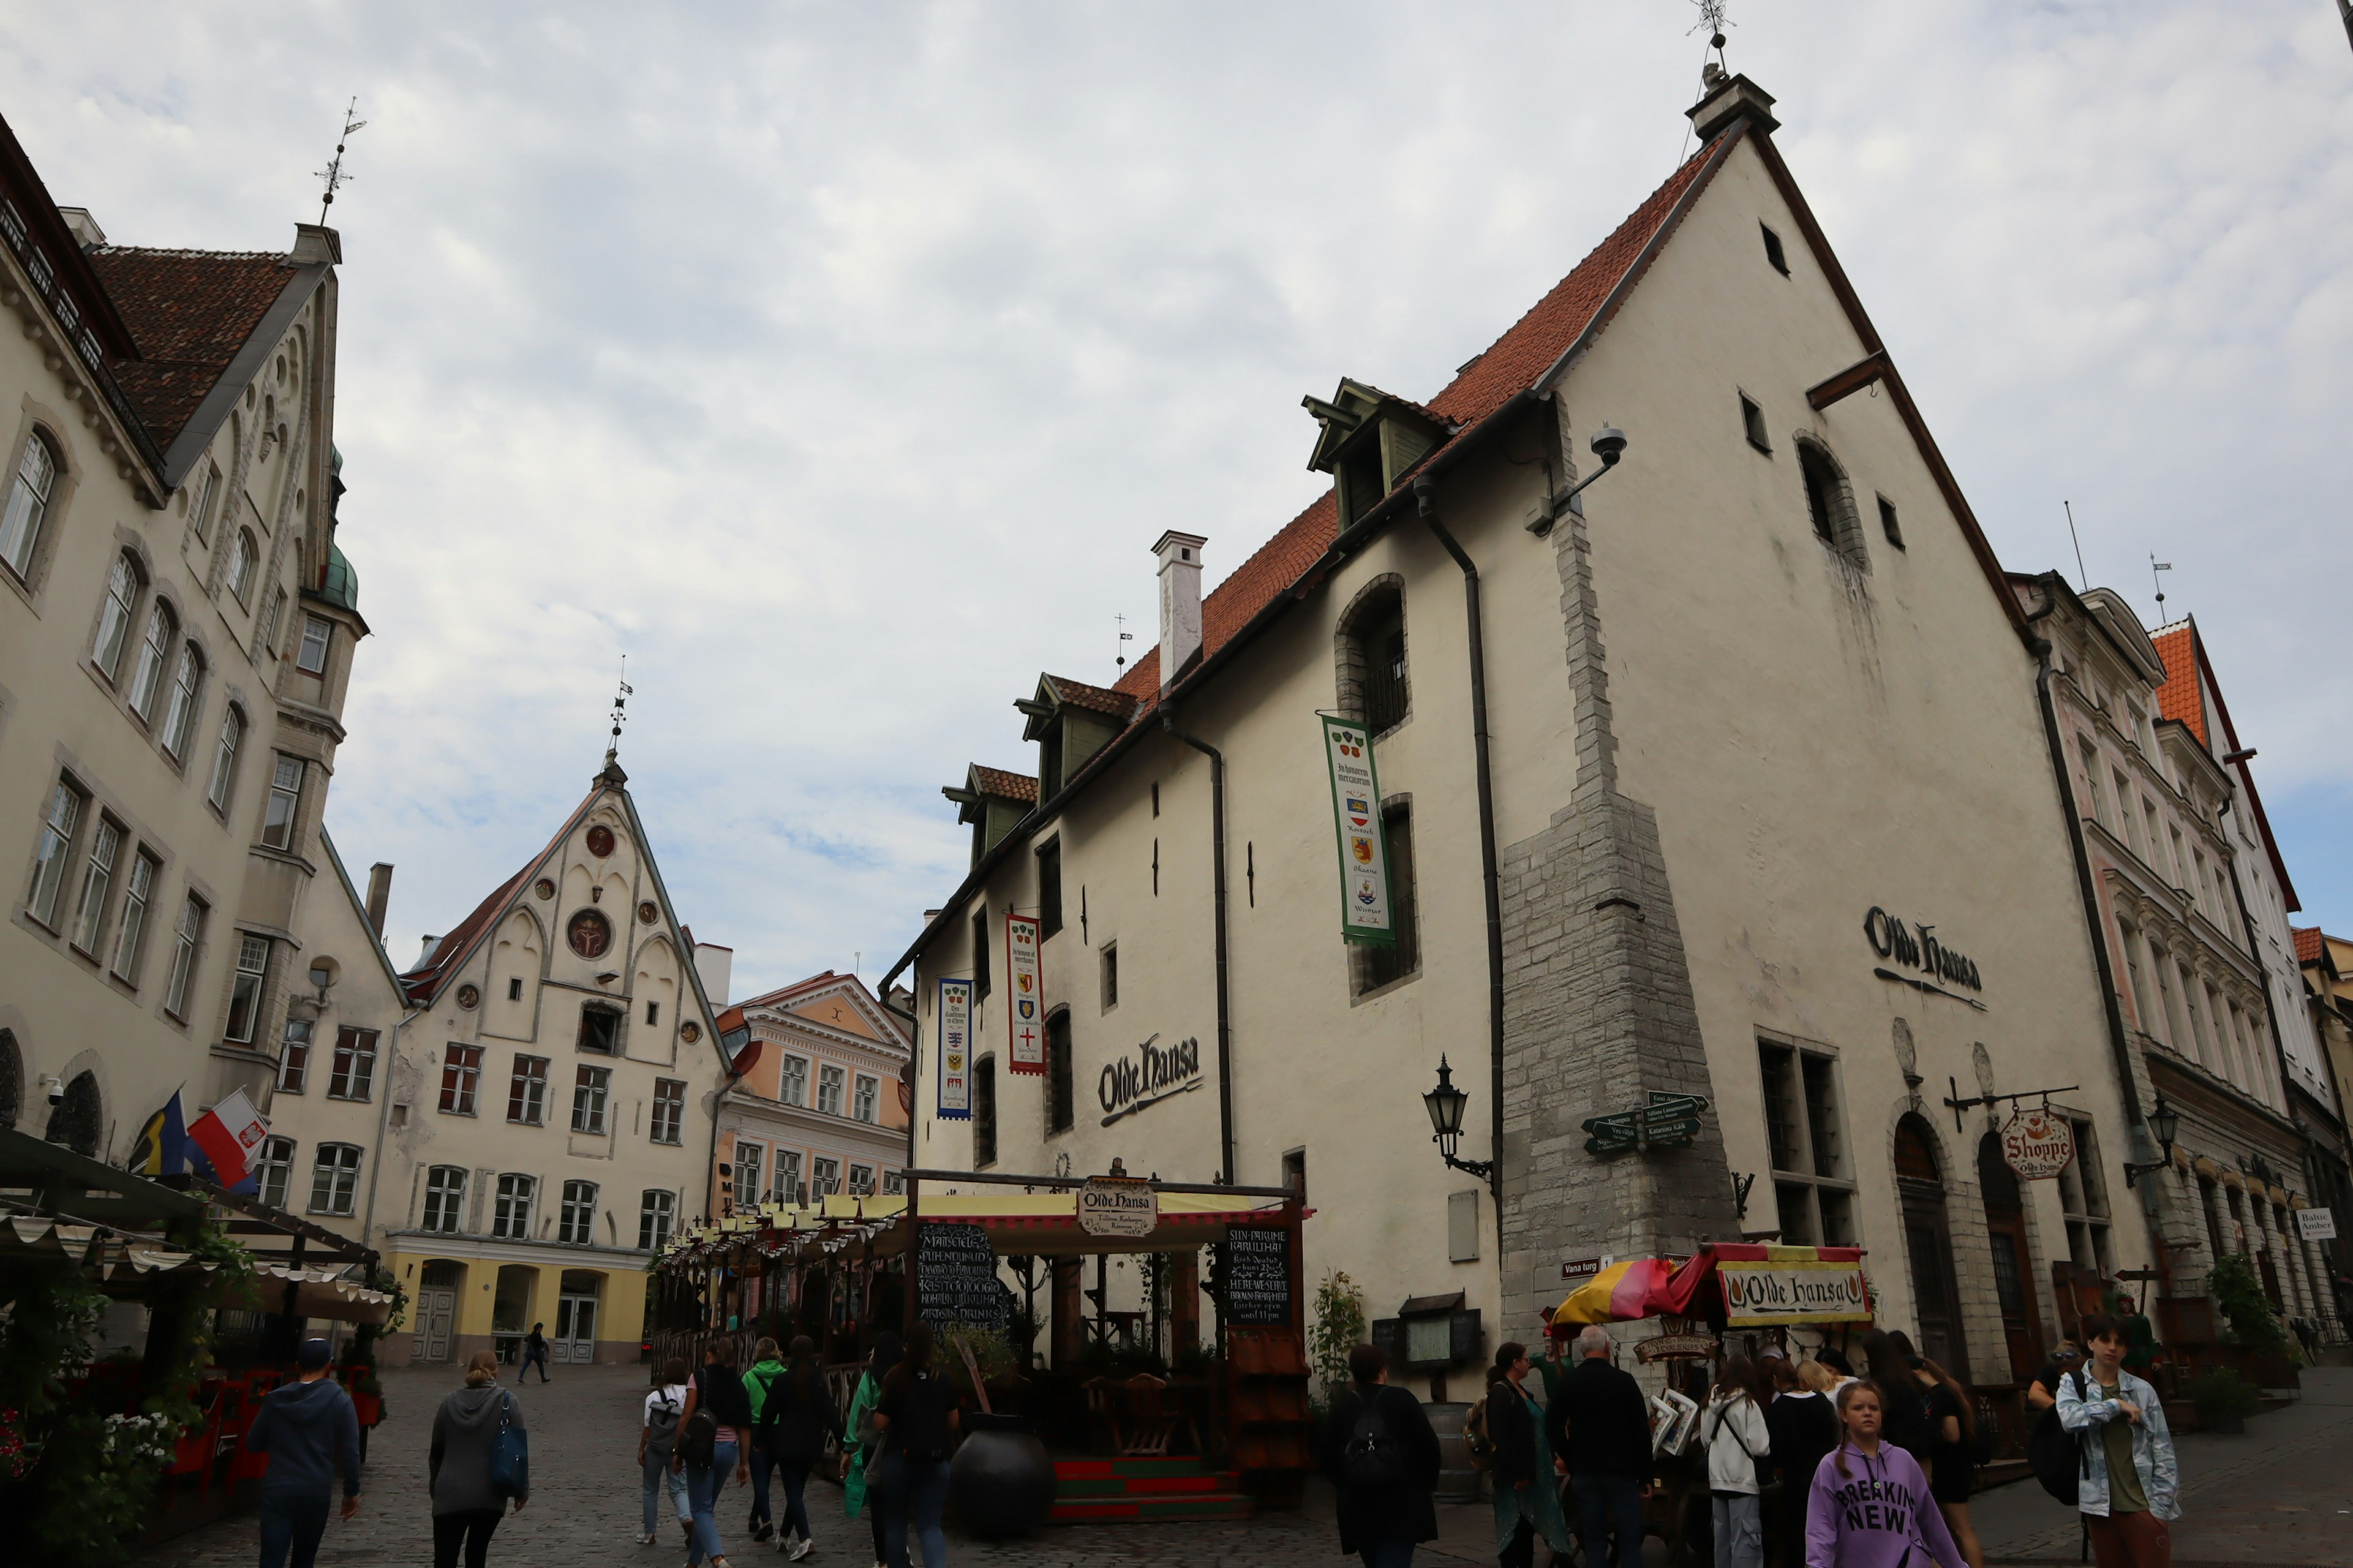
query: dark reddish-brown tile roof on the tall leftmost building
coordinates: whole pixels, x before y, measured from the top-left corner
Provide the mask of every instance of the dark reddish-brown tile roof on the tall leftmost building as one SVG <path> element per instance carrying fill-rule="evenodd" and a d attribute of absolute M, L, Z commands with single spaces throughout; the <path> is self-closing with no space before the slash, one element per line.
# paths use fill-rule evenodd
<path fill-rule="evenodd" d="M 115 364 L 115 381 L 155 447 L 169 449 L 294 273 L 275 252 L 101 244 L 87 256 L 139 341 L 139 360 Z"/>

